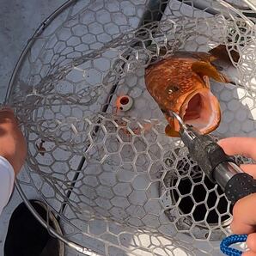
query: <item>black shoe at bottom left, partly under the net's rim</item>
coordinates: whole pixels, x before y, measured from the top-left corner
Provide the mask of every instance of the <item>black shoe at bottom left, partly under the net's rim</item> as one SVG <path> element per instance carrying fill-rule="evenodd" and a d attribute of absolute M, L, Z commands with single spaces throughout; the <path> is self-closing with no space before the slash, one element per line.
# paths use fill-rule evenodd
<path fill-rule="evenodd" d="M 37 200 L 30 204 L 46 220 L 46 205 Z M 52 229 L 61 233 L 56 218 L 50 214 Z M 40 222 L 33 216 L 26 204 L 21 203 L 9 220 L 9 228 L 4 243 L 4 256 L 63 256 L 64 243 L 49 235 Z"/>

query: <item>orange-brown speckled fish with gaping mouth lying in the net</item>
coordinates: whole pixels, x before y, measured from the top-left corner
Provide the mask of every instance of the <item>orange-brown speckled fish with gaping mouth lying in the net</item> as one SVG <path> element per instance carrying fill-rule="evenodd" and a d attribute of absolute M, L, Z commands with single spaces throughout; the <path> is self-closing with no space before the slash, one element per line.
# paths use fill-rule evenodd
<path fill-rule="evenodd" d="M 216 69 L 216 58 L 210 52 L 176 52 L 146 68 L 146 88 L 168 120 L 167 136 L 180 137 L 179 122 L 169 111 L 202 134 L 215 131 L 220 124 L 220 104 L 210 91 L 210 78 L 228 83 L 229 77 Z"/>

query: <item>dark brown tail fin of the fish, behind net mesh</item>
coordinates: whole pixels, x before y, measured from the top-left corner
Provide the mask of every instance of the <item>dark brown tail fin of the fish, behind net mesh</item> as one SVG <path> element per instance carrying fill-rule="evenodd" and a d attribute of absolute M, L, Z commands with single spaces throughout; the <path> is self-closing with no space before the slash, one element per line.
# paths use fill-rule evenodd
<path fill-rule="evenodd" d="M 222 60 L 222 61 L 224 61 L 225 63 L 228 63 L 228 64 L 232 64 L 232 61 L 231 61 L 230 57 L 236 63 L 240 59 L 239 52 L 236 52 L 235 50 L 231 50 L 230 52 L 228 52 L 227 51 L 227 46 L 225 46 L 225 45 L 216 46 L 213 49 L 211 49 L 209 51 L 209 53 L 212 56 L 214 56 L 216 59 L 220 59 L 220 60 Z M 229 56 L 229 53 L 230 53 L 230 56 Z"/>

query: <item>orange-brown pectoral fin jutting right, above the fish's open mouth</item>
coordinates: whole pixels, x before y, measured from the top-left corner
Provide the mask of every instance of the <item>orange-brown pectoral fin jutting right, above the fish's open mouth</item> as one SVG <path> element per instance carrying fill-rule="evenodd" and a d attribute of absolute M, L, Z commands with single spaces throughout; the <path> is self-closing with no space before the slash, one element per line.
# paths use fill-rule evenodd
<path fill-rule="evenodd" d="M 192 64 L 192 71 L 197 73 L 203 80 L 204 76 L 209 76 L 218 82 L 229 82 L 229 78 L 218 71 L 210 62 L 196 61 Z"/>

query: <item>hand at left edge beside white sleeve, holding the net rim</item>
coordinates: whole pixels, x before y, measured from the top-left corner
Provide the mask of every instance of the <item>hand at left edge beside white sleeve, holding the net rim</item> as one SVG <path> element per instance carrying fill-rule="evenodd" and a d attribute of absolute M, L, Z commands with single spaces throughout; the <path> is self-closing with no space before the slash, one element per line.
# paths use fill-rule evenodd
<path fill-rule="evenodd" d="M 10 108 L 0 110 L 0 155 L 12 165 L 15 176 L 20 172 L 27 155 L 25 138 Z"/>

